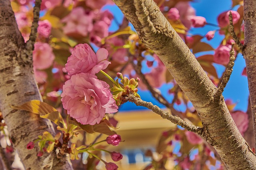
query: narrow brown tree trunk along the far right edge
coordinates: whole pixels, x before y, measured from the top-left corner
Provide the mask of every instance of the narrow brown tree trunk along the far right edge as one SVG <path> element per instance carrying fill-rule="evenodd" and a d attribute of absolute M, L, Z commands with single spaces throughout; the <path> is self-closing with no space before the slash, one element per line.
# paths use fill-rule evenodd
<path fill-rule="evenodd" d="M 244 0 L 244 59 L 252 108 L 254 141 L 256 141 L 256 1 Z M 255 146 L 254 146 L 255 147 Z"/>

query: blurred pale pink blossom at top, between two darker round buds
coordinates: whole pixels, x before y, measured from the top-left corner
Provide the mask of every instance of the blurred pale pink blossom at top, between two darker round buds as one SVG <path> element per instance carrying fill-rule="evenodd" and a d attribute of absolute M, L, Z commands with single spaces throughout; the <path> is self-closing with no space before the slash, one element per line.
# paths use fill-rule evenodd
<path fill-rule="evenodd" d="M 189 2 L 180 1 L 175 5 L 175 8 L 179 10 L 180 20 L 182 21 L 183 25 L 190 29 L 191 21 L 190 18 L 195 16 L 196 12 L 195 9 L 192 8 Z"/>

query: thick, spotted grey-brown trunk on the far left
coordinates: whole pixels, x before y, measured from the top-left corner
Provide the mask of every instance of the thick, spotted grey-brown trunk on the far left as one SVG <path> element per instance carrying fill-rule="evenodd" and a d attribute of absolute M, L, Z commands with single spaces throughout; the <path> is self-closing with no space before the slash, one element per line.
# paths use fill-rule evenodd
<path fill-rule="evenodd" d="M 26 53 L 28 51 L 9 0 L 0 0 L 0 47 L 0 110 L 25 168 L 72 170 L 67 159 L 57 159 L 54 152 L 37 157 L 38 147 L 26 149 L 28 142 L 44 131 L 54 135 L 52 124 L 36 114 L 10 107 L 34 99 L 41 100 L 41 96 L 34 81 L 32 56 Z"/>

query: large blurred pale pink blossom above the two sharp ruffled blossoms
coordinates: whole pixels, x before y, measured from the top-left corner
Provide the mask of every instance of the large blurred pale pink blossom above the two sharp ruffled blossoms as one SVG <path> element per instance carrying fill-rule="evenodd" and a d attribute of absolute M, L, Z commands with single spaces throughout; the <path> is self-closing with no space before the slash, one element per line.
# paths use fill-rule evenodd
<path fill-rule="evenodd" d="M 92 31 L 93 14 L 85 12 L 84 8 L 74 8 L 68 16 L 61 21 L 66 23 L 63 27 L 63 32 L 67 35 L 80 34 L 82 36 L 88 35 Z"/>

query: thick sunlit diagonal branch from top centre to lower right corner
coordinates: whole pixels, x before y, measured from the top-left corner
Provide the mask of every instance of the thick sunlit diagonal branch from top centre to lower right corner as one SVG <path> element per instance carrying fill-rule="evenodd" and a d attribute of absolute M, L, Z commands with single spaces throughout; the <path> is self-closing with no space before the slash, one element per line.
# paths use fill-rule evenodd
<path fill-rule="evenodd" d="M 202 120 L 202 136 L 216 149 L 226 167 L 230 170 L 256 169 L 256 158 L 239 133 L 223 96 L 215 97 L 217 88 L 155 2 L 114 2 L 134 25 L 140 39 L 159 56 L 188 96 Z"/>

